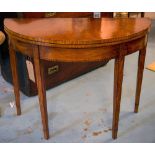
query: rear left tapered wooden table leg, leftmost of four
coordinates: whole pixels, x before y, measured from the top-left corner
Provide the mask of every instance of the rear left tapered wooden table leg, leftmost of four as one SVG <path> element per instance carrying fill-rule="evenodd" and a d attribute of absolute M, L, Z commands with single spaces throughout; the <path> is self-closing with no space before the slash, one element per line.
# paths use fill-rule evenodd
<path fill-rule="evenodd" d="M 16 52 L 14 51 L 11 43 L 9 43 L 9 51 L 10 51 L 10 65 L 12 71 L 12 80 L 14 85 L 14 94 L 15 94 L 15 102 L 16 102 L 16 111 L 17 115 L 21 114 L 20 107 L 20 92 L 19 92 L 19 79 L 18 79 L 18 70 L 17 70 L 17 59 Z"/>

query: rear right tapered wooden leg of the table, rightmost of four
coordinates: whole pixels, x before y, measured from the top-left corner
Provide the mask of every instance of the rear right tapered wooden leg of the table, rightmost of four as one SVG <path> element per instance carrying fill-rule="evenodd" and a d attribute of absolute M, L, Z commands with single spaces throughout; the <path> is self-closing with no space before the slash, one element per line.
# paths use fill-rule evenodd
<path fill-rule="evenodd" d="M 145 64 L 145 56 L 146 56 L 146 48 L 139 51 L 137 88 L 136 88 L 135 109 L 134 109 L 135 113 L 138 112 L 138 107 L 139 107 L 141 86 L 142 86 L 142 80 L 143 80 L 143 71 L 144 71 L 144 64 Z"/>

